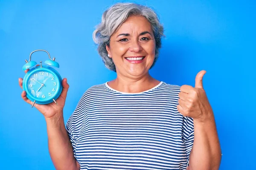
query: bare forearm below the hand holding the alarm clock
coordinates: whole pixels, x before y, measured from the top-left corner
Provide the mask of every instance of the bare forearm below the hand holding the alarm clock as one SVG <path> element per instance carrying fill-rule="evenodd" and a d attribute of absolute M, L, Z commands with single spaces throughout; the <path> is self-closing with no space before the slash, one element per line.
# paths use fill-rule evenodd
<path fill-rule="evenodd" d="M 49 153 L 56 170 L 78 170 L 63 114 L 56 114 L 46 122 Z"/>

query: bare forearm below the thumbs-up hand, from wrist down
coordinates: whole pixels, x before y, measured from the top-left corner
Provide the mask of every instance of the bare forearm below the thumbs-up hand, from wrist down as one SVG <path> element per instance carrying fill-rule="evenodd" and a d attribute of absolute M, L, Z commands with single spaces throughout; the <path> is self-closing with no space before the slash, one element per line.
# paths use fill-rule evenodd
<path fill-rule="evenodd" d="M 221 147 L 213 113 L 205 122 L 194 120 L 194 143 L 189 156 L 189 170 L 218 170 Z"/>

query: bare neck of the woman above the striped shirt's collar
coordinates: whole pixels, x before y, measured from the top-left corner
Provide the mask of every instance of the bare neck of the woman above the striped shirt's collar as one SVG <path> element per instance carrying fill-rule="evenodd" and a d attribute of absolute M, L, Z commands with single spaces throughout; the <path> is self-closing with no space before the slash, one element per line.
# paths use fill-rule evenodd
<path fill-rule="evenodd" d="M 160 81 L 151 77 L 149 73 L 145 74 L 143 77 L 135 79 L 122 77 L 117 74 L 116 79 L 108 82 L 108 85 L 117 91 L 125 93 L 140 93 L 154 88 L 159 83 Z"/>

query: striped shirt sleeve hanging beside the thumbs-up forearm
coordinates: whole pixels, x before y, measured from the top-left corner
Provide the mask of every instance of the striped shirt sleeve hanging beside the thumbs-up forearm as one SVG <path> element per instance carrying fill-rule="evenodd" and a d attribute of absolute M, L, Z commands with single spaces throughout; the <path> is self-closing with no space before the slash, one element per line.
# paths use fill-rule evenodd
<path fill-rule="evenodd" d="M 186 149 L 187 165 L 189 164 L 189 155 L 194 143 L 194 123 L 190 117 L 183 117 L 182 139 Z"/>

